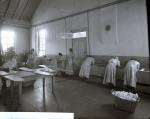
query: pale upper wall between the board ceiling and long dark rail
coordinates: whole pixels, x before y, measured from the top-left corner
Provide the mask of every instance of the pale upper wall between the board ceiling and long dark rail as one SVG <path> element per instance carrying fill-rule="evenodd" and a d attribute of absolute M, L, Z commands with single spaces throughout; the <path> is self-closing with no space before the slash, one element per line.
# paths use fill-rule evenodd
<path fill-rule="evenodd" d="M 117 0 L 41 0 L 32 24 L 53 20 Z"/>

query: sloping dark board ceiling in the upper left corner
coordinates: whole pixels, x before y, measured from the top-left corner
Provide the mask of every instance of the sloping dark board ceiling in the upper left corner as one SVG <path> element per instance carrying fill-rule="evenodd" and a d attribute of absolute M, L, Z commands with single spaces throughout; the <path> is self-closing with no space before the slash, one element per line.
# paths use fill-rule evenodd
<path fill-rule="evenodd" d="M 41 0 L 0 0 L 0 20 L 30 22 Z"/>

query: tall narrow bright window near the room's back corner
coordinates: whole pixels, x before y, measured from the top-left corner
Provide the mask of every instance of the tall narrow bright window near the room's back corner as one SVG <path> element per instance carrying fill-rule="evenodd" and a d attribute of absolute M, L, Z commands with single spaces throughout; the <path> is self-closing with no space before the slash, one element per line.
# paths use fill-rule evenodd
<path fill-rule="evenodd" d="M 46 31 L 39 31 L 39 56 L 45 55 L 45 40 L 46 40 Z"/>

